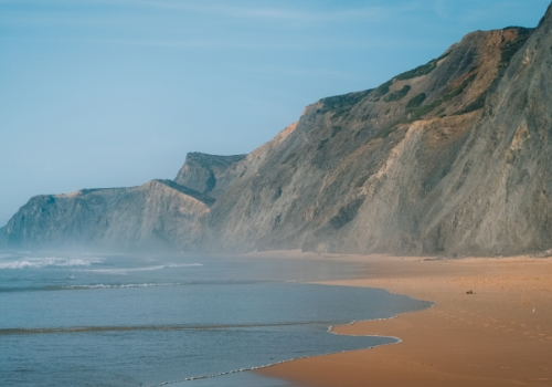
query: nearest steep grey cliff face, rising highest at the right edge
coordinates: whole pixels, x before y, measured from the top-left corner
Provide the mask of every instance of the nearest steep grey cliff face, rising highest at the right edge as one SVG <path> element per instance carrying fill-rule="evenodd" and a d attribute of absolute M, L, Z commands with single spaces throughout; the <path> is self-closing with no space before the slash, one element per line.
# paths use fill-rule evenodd
<path fill-rule="evenodd" d="M 551 248 L 551 48 L 552 8 L 511 60 L 428 201 L 422 222 L 426 251 Z"/>

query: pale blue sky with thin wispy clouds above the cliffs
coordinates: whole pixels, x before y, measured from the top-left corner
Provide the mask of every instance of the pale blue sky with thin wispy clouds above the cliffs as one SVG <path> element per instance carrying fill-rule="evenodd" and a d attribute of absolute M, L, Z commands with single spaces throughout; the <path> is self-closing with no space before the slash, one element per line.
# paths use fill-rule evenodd
<path fill-rule="evenodd" d="M 174 178 L 550 0 L 0 0 L 0 226 L 32 196 Z"/>

